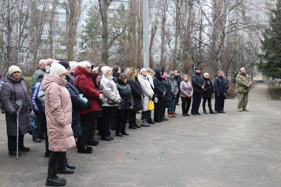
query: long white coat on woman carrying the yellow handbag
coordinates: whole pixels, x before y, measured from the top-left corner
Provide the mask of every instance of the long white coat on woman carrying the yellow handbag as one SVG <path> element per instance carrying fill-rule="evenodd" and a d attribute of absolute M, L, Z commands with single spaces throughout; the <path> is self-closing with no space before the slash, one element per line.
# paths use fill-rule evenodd
<path fill-rule="evenodd" d="M 145 112 L 148 109 L 148 102 L 150 100 L 150 96 L 154 95 L 154 92 L 151 89 L 148 77 L 138 75 L 138 80 L 140 82 L 142 92 L 144 93 L 144 98 L 142 98 L 142 112 Z"/>

